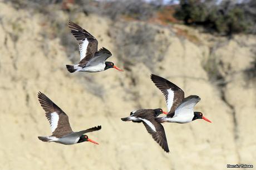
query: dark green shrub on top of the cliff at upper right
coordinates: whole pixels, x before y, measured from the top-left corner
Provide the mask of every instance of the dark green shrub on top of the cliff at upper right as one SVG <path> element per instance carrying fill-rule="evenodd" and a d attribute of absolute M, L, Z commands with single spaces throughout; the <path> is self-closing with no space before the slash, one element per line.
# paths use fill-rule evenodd
<path fill-rule="evenodd" d="M 245 18 L 245 11 L 239 4 L 221 4 L 199 0 L 181 0 L 175 17 L 185 24 L 204 26 L 221 34 L 247 32 L 251 24 Z"/>

